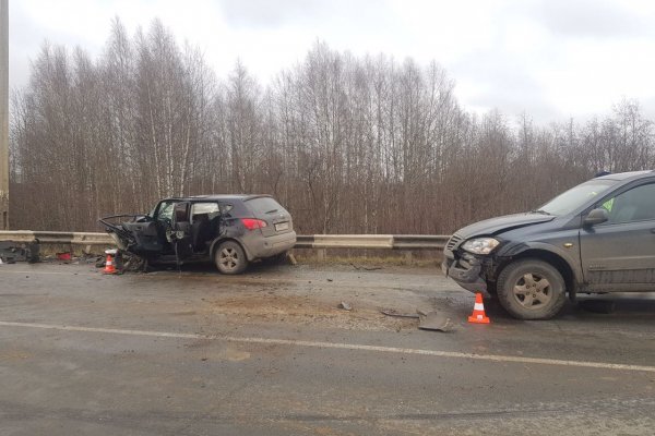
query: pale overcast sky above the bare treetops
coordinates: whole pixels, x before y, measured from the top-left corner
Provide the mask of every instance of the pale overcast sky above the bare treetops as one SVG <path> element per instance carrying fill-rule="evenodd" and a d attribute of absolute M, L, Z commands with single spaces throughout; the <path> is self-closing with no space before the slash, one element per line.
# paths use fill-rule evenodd
<path fill-rule="evenodd" d="M 436 60 L 460 102 L 547 123 L 607 114 L 622 97 L 655 119 L 652 0 L 9 0 L 10 85 L 48 40 L 100 53 L 111 19 L 159 17 L 219 77 L 240 58 L 265 84 L 320 39 L 355 55 Z"/>

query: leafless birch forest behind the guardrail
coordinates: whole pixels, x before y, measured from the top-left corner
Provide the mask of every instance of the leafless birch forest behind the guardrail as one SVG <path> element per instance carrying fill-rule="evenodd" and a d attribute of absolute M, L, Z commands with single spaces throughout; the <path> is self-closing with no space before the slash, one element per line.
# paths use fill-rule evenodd
<path fill-rule="evenodd" d="M 131 37 L 117 20 L 98 59 L 45 45 L 14 90 L 12 228 L 98 231 L 165 196 L 270 193 L 299 233 L 450 233 L 599 169 L 655 167 L 636 101 L 544 126 L 475 117 L 453 88 L 437 63 L 321 43 L 265 88 L 240 63 L 219 80 L 160 22 Z"/>

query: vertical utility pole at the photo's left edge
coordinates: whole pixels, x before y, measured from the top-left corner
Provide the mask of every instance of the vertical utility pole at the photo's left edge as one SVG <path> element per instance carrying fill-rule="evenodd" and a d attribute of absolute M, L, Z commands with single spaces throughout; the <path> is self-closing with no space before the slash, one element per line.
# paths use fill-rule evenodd
<path fill-rule="evenodd" d="M 9 230 L 9 0 L 0 0 L 0 230 Z"/>

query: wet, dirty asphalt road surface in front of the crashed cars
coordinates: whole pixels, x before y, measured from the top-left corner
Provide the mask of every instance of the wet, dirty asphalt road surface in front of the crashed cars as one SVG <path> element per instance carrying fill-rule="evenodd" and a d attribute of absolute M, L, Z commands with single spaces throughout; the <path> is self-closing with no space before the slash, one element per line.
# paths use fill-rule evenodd
<path fill-rule="evenodd" d="M 437 268 L 1 265 L 0 434 L 653 435 L 655 299 L 614 299 L 472 325 Z"/>

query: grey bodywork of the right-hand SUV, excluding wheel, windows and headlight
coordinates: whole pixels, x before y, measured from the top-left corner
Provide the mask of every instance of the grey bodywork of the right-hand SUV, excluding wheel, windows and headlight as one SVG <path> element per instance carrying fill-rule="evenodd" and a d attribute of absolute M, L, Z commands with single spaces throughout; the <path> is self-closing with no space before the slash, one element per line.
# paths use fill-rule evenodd
<path fill-rule="evenodd" d="M 444 249 L 443 271 L 460 286 L 484 291 L 515 258 L 547 259 L 568 278 L 568 291 L 655 291 L 655 219 L 585 226 L 584 218 L 604 202 L 655 183 L 655 172 L 610 174 L 610 187 L 562 216 L 540 213 L 491 218 L 457 230 Z M 655 197 L 653 198 L 655 204 Z M 464 251 L 474 238 L 500 243 L 489 255 Z M 454 242 L 453 242 L 454 241 Z"/>

